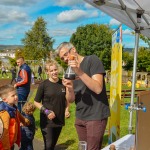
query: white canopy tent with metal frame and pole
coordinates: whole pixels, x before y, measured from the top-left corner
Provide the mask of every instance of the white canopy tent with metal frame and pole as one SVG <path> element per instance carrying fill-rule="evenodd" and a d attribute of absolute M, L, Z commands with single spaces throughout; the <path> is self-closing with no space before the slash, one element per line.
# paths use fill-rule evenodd
<path fill-rule="evenodd" d="M 131 106 L 134 104 L 139 34 L 150 38 L 150 0 L 84 0 L 135 31 Z M 130 111 L 129 133 L 132 131 Z"/>

